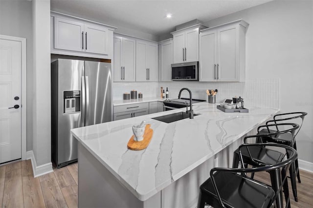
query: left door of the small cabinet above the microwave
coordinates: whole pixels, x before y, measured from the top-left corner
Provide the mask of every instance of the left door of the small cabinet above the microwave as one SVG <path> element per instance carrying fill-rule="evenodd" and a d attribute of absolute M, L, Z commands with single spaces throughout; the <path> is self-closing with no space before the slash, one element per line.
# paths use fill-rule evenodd
<path fill-rule="evenodd" d="M 173 52 L 174 63 L 184 62 L 184 50 L 185 50 L 185 32 L 174 34 L 173 36 Z"/>

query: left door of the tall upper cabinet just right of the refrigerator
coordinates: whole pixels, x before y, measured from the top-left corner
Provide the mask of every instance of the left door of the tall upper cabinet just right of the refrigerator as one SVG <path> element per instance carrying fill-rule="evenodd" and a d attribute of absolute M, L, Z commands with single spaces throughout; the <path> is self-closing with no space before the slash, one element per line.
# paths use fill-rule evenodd
<path fill-rule="evenodd" d="M 122 66 L 122 43 L 123 38 L 115 37 L 113 38 L 113 81 L 122 82 L 123 81 L 123 66 Z"/>

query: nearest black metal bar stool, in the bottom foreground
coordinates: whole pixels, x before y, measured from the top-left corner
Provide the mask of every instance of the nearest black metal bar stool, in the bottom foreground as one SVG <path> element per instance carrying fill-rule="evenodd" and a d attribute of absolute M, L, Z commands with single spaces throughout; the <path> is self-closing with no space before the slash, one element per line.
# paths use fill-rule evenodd
<path fill-rule="evenodd" d="M 269 166 L 212 168 L 210 178 L 200 186 L 198 208 L 204 208 L 205 205 L 210 205 L 214 208 L 268 208 L 272 207 L 275 202 L 276 207 L 282 208 L 282 187 L 288 186 L 288 183 L 287 175 L 285 174 L 281 177 L 280 169 L 286 172 L 291 163 L 297 158 L 297 152 L 290 146 L 279 144 L 243 144 L 239 146 L 240 161 L 242 164 L 244 164 L 244 160 L 241 150 L 245 149 L 244 147 L 255 146 L 281 147 L 289 153 L 290 157 L 287 160 Z M 250 159 L 252 160 L 252 158 Z M 275 186 L 269 187 L 246 175 L 246 173 L 261 171 L 270 172 Z"/>

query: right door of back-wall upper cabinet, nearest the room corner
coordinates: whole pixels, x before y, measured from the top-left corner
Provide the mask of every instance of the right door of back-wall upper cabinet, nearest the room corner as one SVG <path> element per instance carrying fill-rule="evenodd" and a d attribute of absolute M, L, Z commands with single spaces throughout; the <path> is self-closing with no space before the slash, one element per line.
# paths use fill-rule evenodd
<path fill-rule="evenodd" d="M 153 42 L 147 43 L 146 64 L 148 68 L 148 81 L 157 82 L 157 44 Z"/>

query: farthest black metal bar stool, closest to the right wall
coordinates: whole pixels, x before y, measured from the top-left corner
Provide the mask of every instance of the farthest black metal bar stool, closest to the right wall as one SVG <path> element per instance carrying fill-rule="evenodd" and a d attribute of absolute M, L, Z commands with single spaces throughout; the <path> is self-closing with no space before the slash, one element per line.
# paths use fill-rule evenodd
<path fill-rule="evenodd" d="M 291 135 L 290 134 L 281 134 L 279 135 L 278 139 L 279 141 L 277 143 L 279 144 L 283 144 L 283 145 L 289 145 L 289 143 L 291 142 L 291 140 L 293 140 L 293 148 L 295 150 L 297 150 L 297 144 L 296 144 L 296 141 L 295 141 L 295 137 L 297 136 L 297 134 L 299 133 L 301 127 L 302 127 L 302 124 L 303 124 L 303 121 L 304 121 L 304 117 L 308 115 L 307 112 L 291 112 L 291 113 L 282 113 L 282 114 L 277 114 L 274 116 L 273 120 L 271 121 L 268 121 L 266 124 L 271 124 L 271 123 L 274 123 L 274 124 L 281 124 L 283 122 L 286 122 L 288 121 L 288 123 L 291 123 L 291 122 L 296 122 L 298 121 L 300 127 L 297 129 L 296 133 L 294 134 L 293 138 L 291 138 Z M 292 120 L 292 121 L 291 121 Z M 268 132 L 269 130 L 269 132 Z M 275 130 L 273 129 L 263 129 L 263 131 L 260 131 L 260 134 L 263 134 L 263 133 L 272 133 L 272 132 L 275 132 L 275 131 L 279 131 L 278 128 L 276 128 Z M 285 142 L 286 141 L 286 142 Z M 273 138 L 273 140 L 269 140 L 268 142 L 274 142 L 276 143 L 275 139 Z M 290 145 L 289 145 L 290 146 Z M 301 180 L 300 180 L 300 173 L 299 173 L 299 165 L 298 165 L 298 159 L 296 159 L 296 161 L 294 162 L 295 164 L 295 171 L 296 171 L 296 174 L 297 174 L 297 178 L 298 178 L 298 182 L 301 183 Z M 298 201 L 298 200 L 296 200 Z"/>

